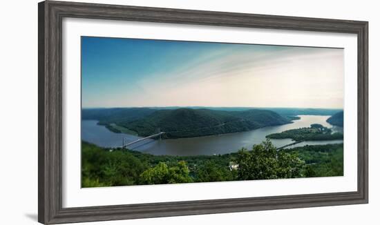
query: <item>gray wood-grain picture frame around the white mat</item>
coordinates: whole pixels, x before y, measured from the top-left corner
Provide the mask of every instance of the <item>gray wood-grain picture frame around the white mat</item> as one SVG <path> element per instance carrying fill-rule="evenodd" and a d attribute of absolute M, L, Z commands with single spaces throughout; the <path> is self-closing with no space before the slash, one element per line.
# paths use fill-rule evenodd
<path fill-rule="evenodd" d="M 44 1 L 38 5 L 38 220 L 44 224 L 368 203 L 368 22 Z M 187 23 L 357 34 L 357 191 L 191 202 L 62 207 L 62 19 Z M 355 91 L 355 90 L 348 90 Z"/>

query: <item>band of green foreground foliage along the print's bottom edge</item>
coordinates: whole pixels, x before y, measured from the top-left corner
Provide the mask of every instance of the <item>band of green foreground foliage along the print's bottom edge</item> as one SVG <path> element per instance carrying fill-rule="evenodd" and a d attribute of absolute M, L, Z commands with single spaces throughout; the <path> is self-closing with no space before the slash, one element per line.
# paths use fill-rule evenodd
<path fill-rule="evenodd" d="M 343 144 L 276 150 L 270 141 L 225 155 L 150 155 L 82 142 L 82 187 L 343 175 Z"/>

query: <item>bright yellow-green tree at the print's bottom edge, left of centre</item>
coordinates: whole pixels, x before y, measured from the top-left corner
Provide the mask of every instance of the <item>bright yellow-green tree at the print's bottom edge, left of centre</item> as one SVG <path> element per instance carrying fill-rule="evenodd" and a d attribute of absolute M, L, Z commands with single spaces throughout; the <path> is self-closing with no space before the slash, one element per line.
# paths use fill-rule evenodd
<path fill-rule="evenodd" d="M 168 167 L 164 162 L 145 170 L 140 175 L 142 184 L 178 184 L 192 182 L 189 168 L 185 162 L 178 162 L 176 166 Z"/>

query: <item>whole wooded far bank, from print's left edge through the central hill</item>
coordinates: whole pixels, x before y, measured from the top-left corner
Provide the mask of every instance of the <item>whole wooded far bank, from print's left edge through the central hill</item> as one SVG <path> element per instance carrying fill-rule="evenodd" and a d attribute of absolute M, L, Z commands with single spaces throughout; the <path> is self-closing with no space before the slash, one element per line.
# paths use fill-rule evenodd
<path fill-rule="evenodd" d="M 137 110 L 138 109 L 138 110 Z M 99 124 L 122 126 L 146 137 L 158 130 L 163 138 L 200 137 L 254 130 L 288 124 L 289 119 L 270 110 L 225 111 L 205 108 L 115 110 L 113 113 L 82 113 L 83 119 L 99 119 Z M 135 115 L 137 113 L 137 115 Z M 113 130 L 115 131 L 115 130 Z"/>

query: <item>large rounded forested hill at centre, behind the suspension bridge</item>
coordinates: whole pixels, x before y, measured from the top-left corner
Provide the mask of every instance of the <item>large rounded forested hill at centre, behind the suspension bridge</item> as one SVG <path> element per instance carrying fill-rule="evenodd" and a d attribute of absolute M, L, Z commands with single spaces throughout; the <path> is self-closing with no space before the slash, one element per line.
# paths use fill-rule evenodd
<path fill-rule="evenodd" d="M 120 124 L 140 136 L 165 132 L 164 138 L 200 137 L 253 130 L 264 126 L 289 123 L 288 119 L 269 110 L 228 112 L 221 110 L 179 108 L 157 110 L 143 119 Z"/>

